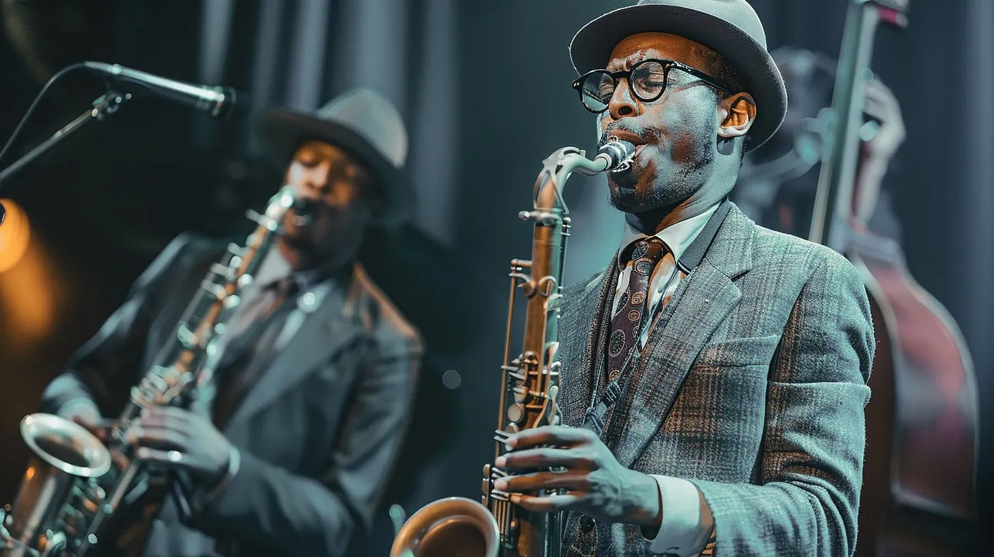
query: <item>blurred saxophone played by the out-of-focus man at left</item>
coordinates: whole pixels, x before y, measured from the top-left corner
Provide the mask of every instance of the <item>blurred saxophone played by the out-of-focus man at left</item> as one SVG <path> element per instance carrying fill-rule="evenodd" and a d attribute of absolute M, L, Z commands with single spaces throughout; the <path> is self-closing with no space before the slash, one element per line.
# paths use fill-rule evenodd
<path fill-rule="evenodd" d="M 149 487 L 162 484 L 160 471 L 146 470 L 148 467 L 138 461 L 127 461 L 117 470 L 112 466 L 111 452 L 128 454 L 124 432 L 142 408 L 188 407 L 196 398 L 198 388 L 213 373 L 219 339 L 239 305 L 242 289 L 251 283 L 292 207 L 292 190 L 284 186 L 262 214 L 248 211 L 248 218 L 257 226 L 244 246 L 230 244 L 223 262 L 211 266 L 184 311 L 172 342 L 160 350 L 160 363 L 152 365 L 131 388 L 107 446 L 82 426 L 59 416 L 38 413 L 21 421 L 22 438 L 34 455 L 14 505 L 7 505 L 0 513 L 0 553 L 4 557 L 83 557 L 103 550 L 105 544 L 100 542 L 113 539 L 104 535 L 107 525 L 121 523 L 117 518 L 122 517 L 114 513 L 122 502 L 130 504 Z M 177 475 L 165 486 L 186 515 L 189 504 L 183 480 L 184 476 Z"/>

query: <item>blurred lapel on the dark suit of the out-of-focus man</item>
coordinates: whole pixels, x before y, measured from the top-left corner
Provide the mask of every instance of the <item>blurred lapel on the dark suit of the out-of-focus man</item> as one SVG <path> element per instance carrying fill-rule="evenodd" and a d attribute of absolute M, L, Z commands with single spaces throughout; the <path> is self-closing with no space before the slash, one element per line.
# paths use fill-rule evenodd
<path fill-rule="evenodd" d="M 228 427 L 278 400 L 362 333 L 355 311 L 362 290 L 358 274 L 357 268 L 348 291 L 325 282 L 297 298 L 297 307 L 287 316 L 277 341 L 281 348 L 248 390 Z"/>

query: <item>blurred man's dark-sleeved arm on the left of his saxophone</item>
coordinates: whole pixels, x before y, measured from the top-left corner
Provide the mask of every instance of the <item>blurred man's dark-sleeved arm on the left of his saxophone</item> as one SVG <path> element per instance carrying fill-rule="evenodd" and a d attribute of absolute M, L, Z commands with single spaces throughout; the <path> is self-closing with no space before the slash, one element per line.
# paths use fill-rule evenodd
<path fill-rule="evenodd" d="M 73 354 L 69 369 L 42 393 L 41 410 L 58 414 L 80 399 L 96 403 L 109 415 L 127 394 L 142 370 L 148 330 L 164 302 L 164 294 L 182 271 L 193 235 L 181 234 L 155 258 L 132 284 L 126 301 L 83 348 Z"/>

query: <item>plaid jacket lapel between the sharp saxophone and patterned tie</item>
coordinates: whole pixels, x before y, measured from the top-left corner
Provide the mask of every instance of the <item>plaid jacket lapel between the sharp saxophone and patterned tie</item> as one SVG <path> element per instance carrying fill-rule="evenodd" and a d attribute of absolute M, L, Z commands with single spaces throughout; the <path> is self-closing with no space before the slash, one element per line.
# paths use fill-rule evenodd
<path fill-rule="evenodd" d="M 580 426 L 589 403 L 603 308 L 613 299 L 617 280 L 612 274 L 601 271 L 576 288 L 575 292 L 567 294 L 570 298 L 566 300 L 566 310 L 560 317 L 559 331 L 564 336 L 560 346 L 565 370 L 560 385 L 560 408 L 567 425 Z"/>

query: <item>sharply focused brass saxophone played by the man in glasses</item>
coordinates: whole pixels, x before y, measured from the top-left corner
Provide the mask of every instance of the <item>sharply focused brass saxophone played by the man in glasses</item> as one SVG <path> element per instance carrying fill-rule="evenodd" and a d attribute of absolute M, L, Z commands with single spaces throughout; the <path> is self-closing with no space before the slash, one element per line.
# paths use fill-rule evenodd
<path fill-rule="evenodd" d="M 494 458 L 508 436 L 524 429 L 562 421 L 556 405 L 560 385 L 556 326 L 562 304 L 562 273 L 570 236 L 570 209 L 563 189 L 574 172 L 594 175 L 628 168 L 634 145 L 611 137 L 588 160 L 580 149 L 564 147 L 545 161 L 535 182 L 533 209 L 518 216 L 535 224 L 530 261 L 511 262 L 510 301 L 498 428 Z M 525 335 L 520 354 L 510 359 L 515 290 L 527 299 Z M 512 504 L 493 487 L 507 474 L 483 467 L 482 503 L 465 497 L 430 502 L 400 527 L 391 557 L 559 557 L 562 513 L 533 513 Z M 538 493 L 544 495 L 548 493 Z"/>

